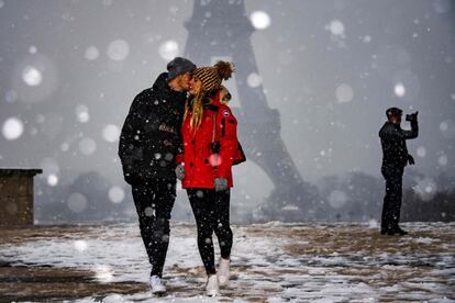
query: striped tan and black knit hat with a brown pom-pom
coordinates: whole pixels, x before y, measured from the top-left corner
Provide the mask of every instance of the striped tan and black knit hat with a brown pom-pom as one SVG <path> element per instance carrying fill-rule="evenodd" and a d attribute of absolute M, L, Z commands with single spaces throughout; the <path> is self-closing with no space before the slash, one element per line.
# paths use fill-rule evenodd
<path fill-rule="evenodd" d="M 212 91 L 221 88 L 221 81 L 231 78 L 234 66 L 226 61 L 218 61 L 214 66 L 199 67 L 192 76 L 201 80 L 204 91 Z"/>

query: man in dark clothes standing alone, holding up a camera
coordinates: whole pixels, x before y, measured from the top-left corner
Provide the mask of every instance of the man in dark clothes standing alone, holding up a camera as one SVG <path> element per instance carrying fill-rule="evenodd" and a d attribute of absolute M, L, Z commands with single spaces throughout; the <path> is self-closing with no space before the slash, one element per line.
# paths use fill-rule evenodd
<path fill-rule="evenodd" d="M 400 109 L 388 109 L 386 114 L 388 121 L 379 131 L 384 155 L 381 172 L 386 179 L 380 234 L 406 235 L 407 232 L 398 225 L 400 221 L 402 178 L 408 162 L 410 165 L 414 164 L 413 157 L 408 154 L 406 141 L 417 138 L 419 135 L 419 112 L 406 116 L 406 120 L 411 122 L 411 131 L 401 128 L 402 111 Z"/>

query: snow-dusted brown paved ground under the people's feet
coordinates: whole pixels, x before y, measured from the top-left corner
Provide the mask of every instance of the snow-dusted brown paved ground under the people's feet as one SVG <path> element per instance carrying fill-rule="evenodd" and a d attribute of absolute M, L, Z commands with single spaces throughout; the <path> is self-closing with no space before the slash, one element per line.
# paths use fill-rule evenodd
<path fill-rule="evenodd" d="M 380 236 L 368 224 L 234 226 L 232 281 L 219 301 L 455 302 L 455 223 L 402 226 L 408 236 Z M 136 224 L 38 226 L 0 234 L 0 298 L 153 299 Z M 27 270 L 26 279 L 21 270 Z M 62 278 L 65 272 L 70 279 Z M 173 225 L 165 279 L 168 295 L 157 301 L 212 301 L 203 296 L 195 226 Z"/>

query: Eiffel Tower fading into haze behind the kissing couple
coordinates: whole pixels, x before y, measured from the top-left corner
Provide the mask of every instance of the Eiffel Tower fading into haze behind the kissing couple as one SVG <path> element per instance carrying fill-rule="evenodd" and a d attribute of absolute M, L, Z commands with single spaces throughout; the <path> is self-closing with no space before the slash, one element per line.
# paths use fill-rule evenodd
<path fill-rule="evenodd" d="M 238 136 L 247 159 L 256 162 L 275 186 L 268 203 L 280 203 L 284 210 L 286 205 L 298 205 L 306 214 L 301 220 L 311 220 L 308 212 L 318 200 L 318 191 L 303 181 L 291 159 L 280 137 L 279 112 L 268 106 L 263 87 L 247 85 L 247 77 L 258 70 L 251 43 L 255 30 L 246 16 L 244 0 L 195 0 L 192 16 L 185 26 L 186 57 L 200 66 L 210 65 L 214 57 L 230 57 L 235 65 L 242 105 L 234 109 L 242 130 Z M 279 218 L 279 214 L 271 215 Z"/>

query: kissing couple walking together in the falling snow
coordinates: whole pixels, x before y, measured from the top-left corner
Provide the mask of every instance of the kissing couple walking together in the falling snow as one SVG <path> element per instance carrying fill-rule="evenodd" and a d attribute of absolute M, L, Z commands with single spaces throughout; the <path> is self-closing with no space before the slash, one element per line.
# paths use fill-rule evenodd
<path fill-rule="evenodd" d="M 219 295 L 220 285 L 229 283 L 232 166 L 245 161 L 237 120 L 228 105 L 231 93 L 222 86 L 233 72 L 228 61 L 197 67 L 176 57 L 152 88 L 134 98 L 123 124 L 119 156 L 152 265 L 148 284 L 153 294 L 166 293 L 163 268 L 177 179 L 196 218 L 207 295 Z M 213 233 L 221 250 L 218 270 Z"/>

